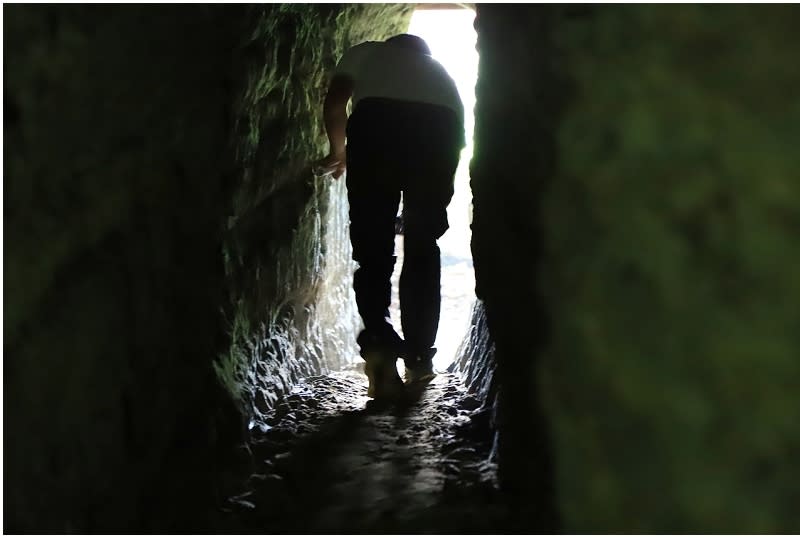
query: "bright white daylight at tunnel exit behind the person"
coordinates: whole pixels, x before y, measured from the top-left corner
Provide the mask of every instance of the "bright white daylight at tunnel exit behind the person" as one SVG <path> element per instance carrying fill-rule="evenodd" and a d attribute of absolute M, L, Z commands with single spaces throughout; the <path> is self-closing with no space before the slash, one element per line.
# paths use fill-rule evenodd
<path fill-rule="evenodd" d="M 455 354 L 469 325 L 475 301 L 475 277 L 470 250 L 470 223 L 472 218 L 472 192 L 469 187 L 469 161 L 472 158 L 474 128 L 475 83 L 478 78 L 478 53 L 475 48 L 477 34 L 473 28 L 475 12 L 470 9 L 418 9 L 411 17 L 407 32 L 424 39 L 431 53 L 441 63 L 456 83 L 464 103 L 464 123 L 467 147 L 455 177 L 455 193 L 447 209 L 450 228 L 439 240 L 442 252 L 442 310 L 436 339 L 438 353 L 434 366 L 446 369 Z M 398 238 L 398 254 L 401 241 Z M 399 261 L 399 260 L 398 260 Z M 395 267 L 392 318 L 400 329 L 397 284 L 399 263 Z"/>

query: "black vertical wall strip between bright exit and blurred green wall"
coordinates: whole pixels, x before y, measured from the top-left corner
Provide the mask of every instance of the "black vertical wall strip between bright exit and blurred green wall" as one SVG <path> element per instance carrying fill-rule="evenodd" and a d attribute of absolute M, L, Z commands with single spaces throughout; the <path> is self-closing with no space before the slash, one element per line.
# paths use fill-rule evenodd
<path fill-rule="evenodd" d="M 547 336 L 537 286 L 538 201 L 552 173 L 560 88 L 551 76 L 549 20 L 530 6 L 478 5 L 472 254 L 476 296 L 494 341 L 501 487 L 526 532 L 555 532 L 548 430 L 536 390 Z M 541 14 L 541 15 L 540 15 Z M 480 308 L 480 305 L 479 305 Z"/>

